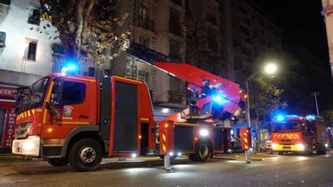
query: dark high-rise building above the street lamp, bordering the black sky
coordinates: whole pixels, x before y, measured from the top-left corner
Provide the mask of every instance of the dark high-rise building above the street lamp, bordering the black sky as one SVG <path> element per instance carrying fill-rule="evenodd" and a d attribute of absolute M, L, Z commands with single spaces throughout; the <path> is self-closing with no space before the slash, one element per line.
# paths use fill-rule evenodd
<path fill-rule="evenodd" d="M 282 53 L 281 30 L 252 1 L 231 1 L 235 81 L 244 86 L 256 65 L 276 61 Z"/>

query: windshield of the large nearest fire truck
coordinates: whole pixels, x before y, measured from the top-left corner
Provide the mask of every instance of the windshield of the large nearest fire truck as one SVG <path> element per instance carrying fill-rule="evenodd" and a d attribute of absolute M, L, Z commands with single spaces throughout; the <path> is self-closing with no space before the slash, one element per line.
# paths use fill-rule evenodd
<path fill-rule="evenodd" d="M 18 112 L 41 105 L 49 79 L 50 77 L 44 77 L 32 84 L 29 89 L 20 90 L 17 102 Z"/>

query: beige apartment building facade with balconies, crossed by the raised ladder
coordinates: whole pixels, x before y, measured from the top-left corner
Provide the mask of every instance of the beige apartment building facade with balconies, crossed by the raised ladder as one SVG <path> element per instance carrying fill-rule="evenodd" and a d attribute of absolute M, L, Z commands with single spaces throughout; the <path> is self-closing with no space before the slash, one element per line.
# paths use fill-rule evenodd
<path fill-rule="evenodd" d="M 117 16 L 129 13 L 122 32 L 131 32 L 131 42 L 183 62 L 185 27 L 182 22 L 185 17 L 185 1 L 126 0 L 115 1 L 115 4 Z M 114 75 L 146 82 L 155 105 L 179 107 L 179 103 L 170 102 L 169 91 L 178 89 L 180 83 L 165 72 L 128 53 L 115 58 L 110 64 L 110 70 Z"/>

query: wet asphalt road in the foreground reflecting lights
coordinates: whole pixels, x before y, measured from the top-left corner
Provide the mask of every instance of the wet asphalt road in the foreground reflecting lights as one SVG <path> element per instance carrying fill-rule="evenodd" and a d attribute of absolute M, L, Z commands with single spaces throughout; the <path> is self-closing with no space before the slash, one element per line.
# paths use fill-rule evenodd
<path fill-rule="evenodd" d="M 1 158 L 0 158 L 1 160 Z M 244 161 L 174 160 L 175 173 L 162 171 L 163 161 L 110 163 L 94 172 L 47 162 L 0 164 L 0 186 L 333 186 L 333 154 L 282 155 L 246 165 Z"/>

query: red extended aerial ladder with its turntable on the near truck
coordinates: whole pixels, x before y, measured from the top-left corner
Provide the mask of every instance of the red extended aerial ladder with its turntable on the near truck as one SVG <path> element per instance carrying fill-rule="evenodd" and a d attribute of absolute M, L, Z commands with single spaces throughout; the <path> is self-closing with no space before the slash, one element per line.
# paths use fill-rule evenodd
<path fill-rule="evenodd" d="M 228 79 L 223 79 L 192 65 L 180 63 L 177 59 L 170 58 L 135 42 L 131 43 L 126 52 L 143 63 L 152 65 L 168 73 L 168 75 L 182 79 L 200 89 L 202 89 L 203 79 L 209 79 L 210 81 L 216 79 L 218 84 L 221 85 L 214 91 L 213 95 L 198 99 L 196 102 L 197 115 L 190 115 L 189 108 L 187 108 L 175 115 L 171 115 L 167 120 L 173 120 L 174 122 L 216 123 L 219 120 L 237 117 L 240 115 L 242 108 L 244 108 L 245 99 L 242 98 L 244 94 L 242 94 L 240 86 Z"/>

